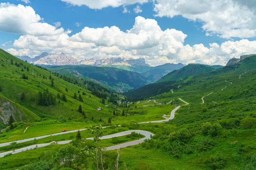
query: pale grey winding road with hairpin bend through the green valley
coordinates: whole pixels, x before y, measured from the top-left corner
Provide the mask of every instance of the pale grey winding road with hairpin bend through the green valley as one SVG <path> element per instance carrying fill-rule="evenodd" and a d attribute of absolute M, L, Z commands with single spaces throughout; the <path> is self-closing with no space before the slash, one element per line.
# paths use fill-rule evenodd
<path fill-rule="evenodd" d="M 179 98 L 180 99 L 180 98 Z M 189 103 L 185 102 L 184 100 L 180 99 L 180 101 L 186 103 L 186 105 L 189 105 Z M 155 102 L 155 101 L 154 101 Z M 175 109 L 172 110 L 171 112 L 171 116 L 169 118 L 165 118 L 164 120 L 158 120 L 158 121 L 151 121 L 151 122 L 140 122 L 139 124 L 143 124 L 143 123 L 161 123 L 161 122 L 168 122 L 169 120 L 173 119 L 174 116 L 175 116 L 175 112 L 180 108 L 180 106 L 177 106 Z M 120 125 L 118 125 L 120 126 Z M 102 128 L 106 128 L 106 127 L 102 127 Z M 79 129 L 80 131 L 82 130 L 87 130 L 87 128 L 85 129 Z M 34 138 L 29 138 L 29 139 L 23 139 L 23 140 L 19 140 L 19 141 L 13 141 L 13 142 L 17 142 L 17 143 L 22 143 L 22 142 L 28 142 L 28 141 L 32 141 L 32 140 L 35 140 L 35 139 L 42 139 L 42 138 L 46 138 L 46 137 L 49 137 L 49 136 L 57 136 L 57 135 L 61 135 L 61 134 L 66 134 L 66 133 L 74 133 L 74 132 L 77 132 L 78 130 L 71 130 L 71 131 L 67 131 L 67 132 L 61 132 L 61 133 L 54 133 L 54 134 L 51 134 L 51 135 L 45 135 L 45 136 L 38 136 L 38 137 L 34 137 Z M 143 139 L 138 139 L 138 140 L 135 140 L 135 141 L 131 141 L 131 142 L 126 142 L 126 143 L 123 143 L 123 144 L 118 144 L 118 145 L 114 145 L 114 146 L 111 146 L 111 147 L 106 147 L 106 150 L 115 150 L 115 149 L 118 149 L 118 148 L 122 148 L 122 147 L 128 147 L 128 146 L 132 146 L 132 145 L 137 145 L 139 143 L 142 143 L 144 142 L 145 139 L 150 139 L 151 136 L 154 136 L 153 133 L 151 132 L 148 132 L 148 131 L 145 131 L 145 130 L 128 130 L 128 131 L 125 131 L 125 132 L 120 132 L 120 133 L 115 133 L 115 134 L 111 134 L 111 135 L 107 135 L 107 136 L 102 136 L 101 139 L 109 139 L 109 138 L 113 138 L 113 137 L 118 137 L 118 136 L 124 136 L 124 135 L 128 135 L 128 134 L 131 134 L 132 132 L 136 132 L 136 133 L 140 133 L 142 135 L 145 136 L 145 138 Z M 93 138 L 87 138 L 88 140 L 93 140 Z M 67 143 L 70 143 L 72 140 L 68 140 L 68 141 L 61 141 L 61 142 L 58 142 L 58 144 L 67 144 Z M 6 143 L 2 143 L 0 144 L 0 147 L 3 147 L 3 146 L 8 146 L 9 144 L 11 144 L 12 142 L 6 142 Z M 37 147 L 45 147 L 45 146 L 48 146 L 50 145 L 49 143 L 45 143 L 45 144 L 34 144 L 34 145 L 31 145 L 31 146 L 28 146 L 28 147 L 23 147 L 23 148 L 20 148 L 20 149 L 17 149 L 15 150 L 15 152 L 13 151 L 8 151 L 8 152 L 4 152 L 4 153 L 0 153 L 0 157 L 3 157 L 5 156 L 6 154 L 8 153 L 12 153 L 12 154 L 15 154 L 15 153 L 20 153 L 20 152 L 23 152 L 23 151 L 26 151 L 26 150 L 31 150 L 31 149 L 34 149 L 36 146 Z"/>

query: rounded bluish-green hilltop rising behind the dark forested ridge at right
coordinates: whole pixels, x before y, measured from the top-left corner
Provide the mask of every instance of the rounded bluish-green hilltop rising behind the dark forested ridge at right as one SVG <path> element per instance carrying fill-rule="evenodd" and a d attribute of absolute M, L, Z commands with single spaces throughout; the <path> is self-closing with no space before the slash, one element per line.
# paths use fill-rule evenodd
<path fill-rule="evenodd" d="M 215 68 L 221 68 L 218 65 L 203 65 L 203 64 L 189 64 L 179 70 L 172 71 L 166 76 L 162 77 L 157 82 L 174 81 L 178 79 L 186 79 L 189 76 L 194 76 L 201 73 L 215 71 Z"/>

